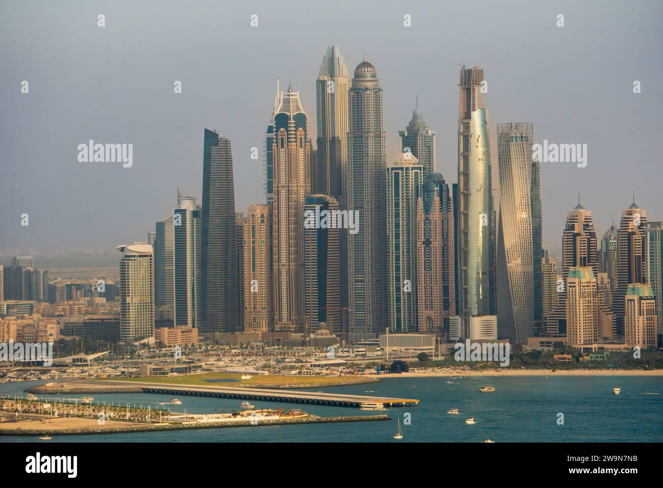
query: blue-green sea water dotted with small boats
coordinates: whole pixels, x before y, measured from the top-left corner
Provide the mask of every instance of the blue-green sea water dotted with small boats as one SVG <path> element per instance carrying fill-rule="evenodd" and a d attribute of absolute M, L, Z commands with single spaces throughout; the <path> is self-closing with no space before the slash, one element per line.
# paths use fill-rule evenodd
<path fill-rule="evenodd" d="M 447 383 L 453 382 L 453 384 Z M 0 384 L 0 394 L 23 394 L 44 381 Z M 493 393 L 479 388 L 491 383 Z M 613 386 L 621 394 L 613 394 Z M 454 388 L 454 390 L 450 390 Z M 314 391 L 321 388 L 313 388 Z M 417 398 L 419 406 L 392 408 L 388 422 L 348 422 L 284 426 L 246 426 L 170 432 L 52 435 L 49 442 L 662 442 L 662 376 L 465 376 L 459 379 L 385 378 L 382 382 L 334 386 L 324 392 Z M 642 394 L 644 392 L 656 394 Z M 57 395 L 40 395 L 58 398 Z M 65 398 L 84 395 L 66 394 Z M 150 393 L 93 394 L 95 402 L 169 402 L 170 395 Z M 180 396 L 172 412 L 211 413 L 239 410 L 242 400 Z M 320 416 L 371 415 L 355 408 L 253 402 L 257 408 L 301 408 Z M 154 406 L 152 406 L 154 408 Z M 161 407 L 163 408 L 163 407 Z M 457 408 L 460 415 L 447 414 Z M 382 412 L 380 412 L 382 413 Z M 564 414 L 564 424 L 558 422 Z M 473 417 L 474 425 L 465 419 Z M 394 440 L 400 418 L 402 440 Z M 0 442 L 35 442 L 36 436 L 0 436 Z"/>

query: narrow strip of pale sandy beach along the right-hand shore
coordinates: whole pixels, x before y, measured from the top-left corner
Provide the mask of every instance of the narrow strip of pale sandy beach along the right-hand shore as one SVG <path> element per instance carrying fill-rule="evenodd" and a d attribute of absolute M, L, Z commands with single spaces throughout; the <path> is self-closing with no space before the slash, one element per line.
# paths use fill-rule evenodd
<path fill-rule="evenodd" d="M 426 378 L 434 376 L 663 376 L 663 369 L 507 369 L 463 370 L 444 368 L 440 370 L 413 370 L 400 374 L 373 374 L 374 378 Z"/>

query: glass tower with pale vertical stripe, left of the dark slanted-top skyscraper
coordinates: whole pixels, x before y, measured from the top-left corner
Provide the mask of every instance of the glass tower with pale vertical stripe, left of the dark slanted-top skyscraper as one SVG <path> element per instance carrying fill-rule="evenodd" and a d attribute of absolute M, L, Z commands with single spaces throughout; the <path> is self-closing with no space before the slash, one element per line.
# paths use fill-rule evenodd
<path fill-rule="evenodd" d="M 177 191 L 173 209 L 174 324 L 200 327 L 200 205 Z"/>

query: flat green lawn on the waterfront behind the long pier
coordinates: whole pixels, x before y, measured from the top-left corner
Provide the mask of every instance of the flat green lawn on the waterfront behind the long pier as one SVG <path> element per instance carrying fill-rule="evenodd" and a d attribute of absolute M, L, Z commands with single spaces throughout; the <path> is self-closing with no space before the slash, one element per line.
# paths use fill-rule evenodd
<path fill-rule="evenodd" d="M 264 385 L 282 385 L 282 384 L 338 384 L 356 382 L 363 380 L 362 376 L 296 376 L 290 374 L 263 374 L 261 376 L 251 376 L 250 380 L 241 379 L 241 374 L 229 374 L 223 372 L 208 372 L 204 374 L 187 374 L 185 376 L 138 376 L 135 378 L 107 378 L 109 380 L 123 381 L 149 381 L 155 383 L 168 384 L 200 384 L 233 386 L 237 384 L 264 384 Z M 229 382 L 208 382 L 206 380 L 232 379 L 237 381 Z"/>

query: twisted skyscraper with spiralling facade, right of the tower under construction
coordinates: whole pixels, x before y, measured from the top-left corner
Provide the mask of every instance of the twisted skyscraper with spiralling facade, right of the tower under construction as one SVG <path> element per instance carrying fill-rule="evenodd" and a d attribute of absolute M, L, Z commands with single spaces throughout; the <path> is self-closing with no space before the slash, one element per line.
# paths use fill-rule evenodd
<path fill-rule="evenodd" d="M 500 208 L 497 244 L 497 327 L 527 343 L 534 335 L 532 256 L 532 123 L 498 123 Z M 539 260 L 540 264 L 540 260 Z M 540 284 L 537 284 L 540 288 Z"/>

